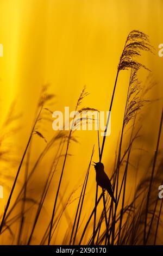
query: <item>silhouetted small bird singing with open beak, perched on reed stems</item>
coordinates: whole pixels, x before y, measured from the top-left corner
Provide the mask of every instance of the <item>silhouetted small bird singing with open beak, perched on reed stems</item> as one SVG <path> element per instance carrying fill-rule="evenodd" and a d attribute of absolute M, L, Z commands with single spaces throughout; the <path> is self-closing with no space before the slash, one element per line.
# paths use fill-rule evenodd
<path fill-rule="evenodd" d="M 95 162 L 93 162 L 93 163 L 95 163 Z M 104 164 L 101 162 L 98 162 L 98 163 L 93 164 L 93 166 L 95 166 L 95 170 L 96 170 L 97 185 L 104 188 L 105 190 L 107 190 L 108 193 L 110 194 L 110 197 L 114 201 L 114 203 L 116 203 L 116 199 L 114 197 L 111 182 L 104 171 Z"/>

